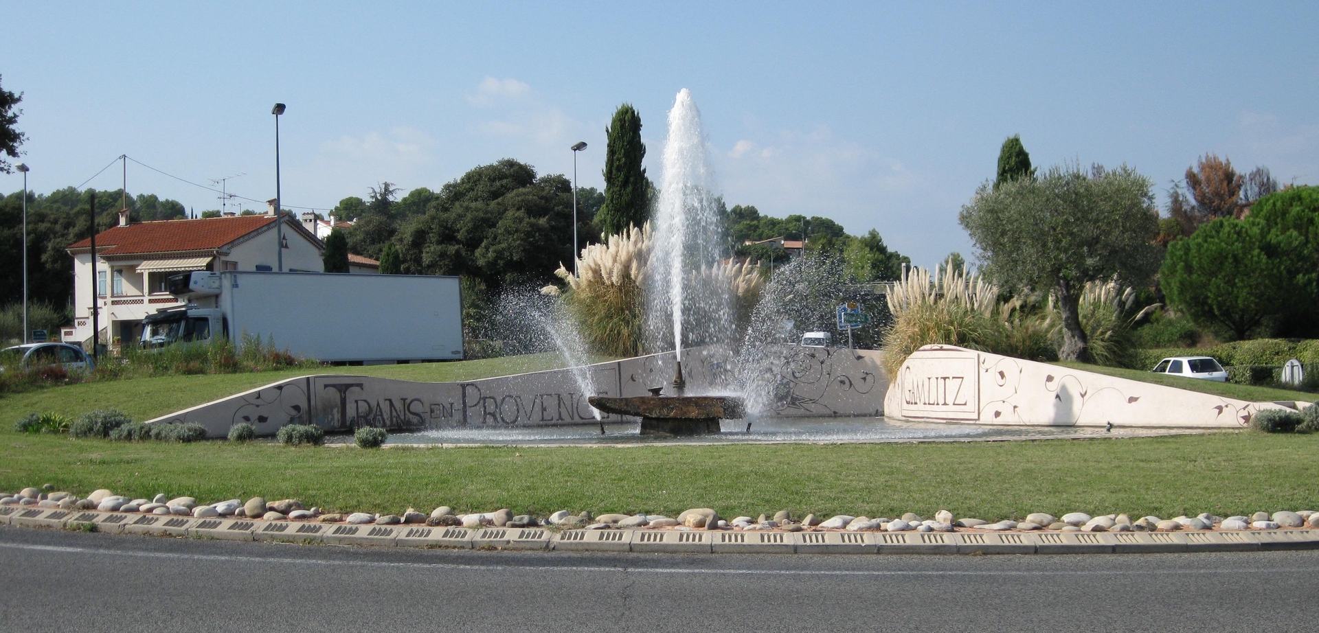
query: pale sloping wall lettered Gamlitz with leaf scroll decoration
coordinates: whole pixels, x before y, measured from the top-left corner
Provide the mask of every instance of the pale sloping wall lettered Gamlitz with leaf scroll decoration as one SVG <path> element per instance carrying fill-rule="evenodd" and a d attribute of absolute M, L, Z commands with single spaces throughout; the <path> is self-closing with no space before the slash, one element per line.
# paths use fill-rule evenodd
<path fill-rule="evenodd" d="M 1279 407 L 952 346 L 909 356 L 885 400 L 892 418 L 981 425 L 1241 429 Z"/>

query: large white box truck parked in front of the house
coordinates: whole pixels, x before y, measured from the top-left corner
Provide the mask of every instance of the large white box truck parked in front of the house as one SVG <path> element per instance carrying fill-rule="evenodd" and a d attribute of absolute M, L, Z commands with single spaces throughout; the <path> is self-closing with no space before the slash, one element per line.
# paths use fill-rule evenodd
<path fill-rule="evenodd" d="M 193 272 L 169 278 L 185 307 L 142 320 L 142 347 L 244 335 L 299 359 L 388 364 L 463 357 L 458 277 Z"/>

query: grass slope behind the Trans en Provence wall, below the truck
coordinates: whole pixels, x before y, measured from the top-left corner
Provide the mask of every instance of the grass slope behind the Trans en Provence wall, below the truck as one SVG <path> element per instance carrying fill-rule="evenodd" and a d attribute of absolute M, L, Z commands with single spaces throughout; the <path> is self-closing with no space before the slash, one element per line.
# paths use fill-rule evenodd
<path fill-rule="evenodd" d="M 29 411 L 54 411 L 77 418 L 94 409 L 119 409 L 137 421 L 152 419 L 278 380 L 311 373 L 347 373 L 422 382 L 445 382 L 538 372 L 558 367 L 563 367 L 559 355 L 538 353 L 458 363 L 324 367 L 313 371 L 288 369 L 256 373 L 212 373 L 79 382 L 4 394 L 0 397 L 0 426 L 9 429 L 15 421 Z"/>

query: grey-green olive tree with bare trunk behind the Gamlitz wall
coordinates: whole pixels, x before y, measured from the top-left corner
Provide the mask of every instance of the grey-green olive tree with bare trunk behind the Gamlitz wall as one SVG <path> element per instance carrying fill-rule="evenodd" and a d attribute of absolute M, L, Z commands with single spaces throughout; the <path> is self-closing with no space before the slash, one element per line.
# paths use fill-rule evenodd
<path fill-rule="evenodd" d="M 1158 211 L 1150 179 L 1054 166 L 1037 178 L 984 183 L 962 207 L 985 273 L 1005 287 L 1051 290 L 1062 313 L 1063 360 L 1089 360 L 1079 302 L 1087 282 L 1146 282 L 1158 270 Z"/>

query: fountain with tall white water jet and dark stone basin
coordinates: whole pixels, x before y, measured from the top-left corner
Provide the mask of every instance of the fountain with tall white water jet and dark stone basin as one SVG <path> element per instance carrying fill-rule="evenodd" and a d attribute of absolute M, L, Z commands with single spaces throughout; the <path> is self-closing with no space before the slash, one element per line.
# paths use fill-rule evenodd
<path fill-rule="evenodd" d="M 656 206 L 656 245 L 650 249 L 648 335 L 657 348 L 673 346 L 677 371 L 673 394 L 591 397 L 591 406 L 641 418 L 642 435 L 715 435 L 720 419 L 741 419 L 735 396 L 686 394 L 683 346 L 728 343 L 733 334 L 731 290 L 719 276 L 703 274 L 719 264 L 723 227 L 714 196 L 712 171 L 700 127 L 700 111 L 683 88 L 669 111 L 669 138 Z M 687 326 L 687 327 L 685 327 Z"/>

